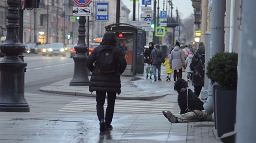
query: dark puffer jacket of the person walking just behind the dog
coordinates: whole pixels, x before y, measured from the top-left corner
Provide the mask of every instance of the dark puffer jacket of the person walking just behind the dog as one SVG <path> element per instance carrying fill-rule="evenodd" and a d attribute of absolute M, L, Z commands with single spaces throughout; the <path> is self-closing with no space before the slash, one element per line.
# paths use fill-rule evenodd
<path fill-rule="evenodd" d="M 204 86 L 205 83 L 205 51 L 195 51 L 189 68 L 193 71 L 192 85 Z"/>

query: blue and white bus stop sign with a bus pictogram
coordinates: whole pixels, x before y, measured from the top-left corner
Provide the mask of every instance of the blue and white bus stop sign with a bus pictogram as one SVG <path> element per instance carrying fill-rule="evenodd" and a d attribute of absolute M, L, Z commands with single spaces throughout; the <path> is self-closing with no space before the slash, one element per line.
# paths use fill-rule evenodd
<path fill-rule="evenodd" d="M 108 2 L 96 2 L 96 21 L 108 21 Z"/>

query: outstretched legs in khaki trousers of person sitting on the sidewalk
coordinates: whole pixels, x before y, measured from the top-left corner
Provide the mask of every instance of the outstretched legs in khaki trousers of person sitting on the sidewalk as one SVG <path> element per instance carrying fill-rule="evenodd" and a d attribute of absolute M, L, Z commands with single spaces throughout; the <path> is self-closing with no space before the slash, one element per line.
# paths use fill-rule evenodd
<path fill-rule="evenodd" d="M 171 123 L 187 123 L 198 121 L 214 121 L 213 115 L 210 116 L 205 111 L 194 110 L 185 114 L 174 116 L 170 111 L 167 111 L 166 116 Z"/>

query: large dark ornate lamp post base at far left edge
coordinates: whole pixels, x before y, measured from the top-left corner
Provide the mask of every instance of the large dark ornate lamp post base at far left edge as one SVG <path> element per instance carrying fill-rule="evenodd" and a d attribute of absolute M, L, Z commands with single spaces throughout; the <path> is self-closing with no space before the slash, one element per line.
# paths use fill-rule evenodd
<path fill-rule="evenodd" d="M 7 0 L 7 4 L 7 35 L 0 45 L 5 54 L 0 61 L 0 112 L 29 112 L 24 98 L 24 69 L 27 64 L 18 57 L 25 50 L 19 39 L 20 0 Z"/>

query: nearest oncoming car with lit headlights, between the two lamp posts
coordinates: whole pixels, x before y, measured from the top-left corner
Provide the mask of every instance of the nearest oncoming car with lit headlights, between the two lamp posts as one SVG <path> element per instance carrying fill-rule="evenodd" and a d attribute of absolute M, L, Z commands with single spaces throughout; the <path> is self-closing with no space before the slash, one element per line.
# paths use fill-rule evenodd
<path fill-rule="evenodd" d="M 49 57 L 53 55 L 54 56 L 62 55 L 62 57 L 66 56 L 66 50 L 63 43 L 52 43 L 46 52 L 48 53 Z"/>

